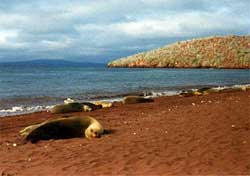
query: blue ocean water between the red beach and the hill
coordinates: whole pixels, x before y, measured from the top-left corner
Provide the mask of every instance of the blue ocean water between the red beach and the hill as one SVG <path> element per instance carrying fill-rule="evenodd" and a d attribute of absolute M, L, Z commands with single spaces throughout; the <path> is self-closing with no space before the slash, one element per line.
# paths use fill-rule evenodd
<path fill-rule="evenodd" d="M 46 110 L 66 98 L 119 100 L 126 94 L 172 95 L 184 89 L 249 83 L 249 69 L 0 64 L 0 116 Z"/>

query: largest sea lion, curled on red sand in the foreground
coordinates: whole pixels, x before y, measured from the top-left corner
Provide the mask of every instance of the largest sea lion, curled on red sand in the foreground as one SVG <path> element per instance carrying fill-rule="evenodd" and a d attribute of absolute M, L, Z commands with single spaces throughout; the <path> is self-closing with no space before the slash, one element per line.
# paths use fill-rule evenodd
<path fill-rule="evenodd" d="M 20 131 L 27 141 L 69 139 L 75 137 L 99 138 L 104 133 L 102 125 L 93 117 L 72 116 L 57 118 L 31 125 Z"/>

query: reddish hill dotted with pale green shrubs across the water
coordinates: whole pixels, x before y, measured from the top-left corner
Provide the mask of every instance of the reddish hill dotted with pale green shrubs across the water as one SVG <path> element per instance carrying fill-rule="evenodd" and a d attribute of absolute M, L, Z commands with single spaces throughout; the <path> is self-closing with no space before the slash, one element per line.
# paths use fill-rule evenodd
<path fill-rule="evenodd" d="M 177 42 L 111 61 L 108 67 L 250 68 L 250 36 Z"/>

